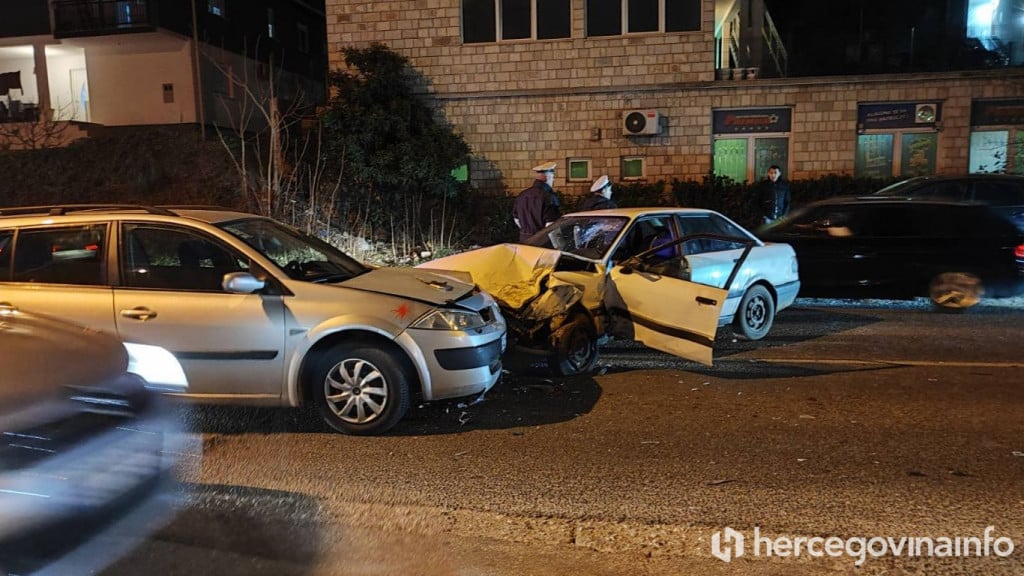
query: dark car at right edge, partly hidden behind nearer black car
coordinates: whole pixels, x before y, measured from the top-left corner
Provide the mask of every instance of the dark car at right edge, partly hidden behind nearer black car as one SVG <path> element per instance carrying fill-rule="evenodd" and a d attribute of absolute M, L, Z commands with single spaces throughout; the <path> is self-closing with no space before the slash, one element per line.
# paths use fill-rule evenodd
<path fill-rule="evenodd" d="M 1024 230 L 1024 176 L 968 174 L 916 176 L 886 187 L 878 198 L 971 201 L 991 206 Z"/>

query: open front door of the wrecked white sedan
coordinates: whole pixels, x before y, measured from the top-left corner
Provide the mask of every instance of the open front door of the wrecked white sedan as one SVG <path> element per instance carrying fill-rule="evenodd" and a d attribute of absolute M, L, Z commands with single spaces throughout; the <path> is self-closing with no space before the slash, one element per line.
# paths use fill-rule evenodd
<path fill-rule="evenodd" d="M 714 235 L 684 236 L 637 254 L 622 264 L 613 264 L 608 273 L 605 306 L 612 317 L 616 334 L 625 327 L 629 332 L 627 336 L 646 346 L 711 366 L 722 306 L 753 242 L 736 258 L 722 288 L 690 282 L 685 272 L 669 274 L 666 271 L 672 270 L 671 266 L 645 265 L 656 251 L 701 237 L 719 238 Z M 685 265 L 676 266 L 676 270 L 685 271 Z"/>

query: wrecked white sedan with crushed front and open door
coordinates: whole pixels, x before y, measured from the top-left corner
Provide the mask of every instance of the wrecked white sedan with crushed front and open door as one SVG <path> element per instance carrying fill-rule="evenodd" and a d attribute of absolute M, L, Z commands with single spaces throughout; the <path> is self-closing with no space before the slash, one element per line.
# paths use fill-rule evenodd
<path fill-rule="evenodd" d="M 471 273 L 502 304 L 517 345 L 562 374 L 589 370 L 606 334 L 710 365 L 719 326 L 763 338 L 800 290 L 792 248 L 694 208 L 578 212 L 525 245 L 422 266 Z"/>

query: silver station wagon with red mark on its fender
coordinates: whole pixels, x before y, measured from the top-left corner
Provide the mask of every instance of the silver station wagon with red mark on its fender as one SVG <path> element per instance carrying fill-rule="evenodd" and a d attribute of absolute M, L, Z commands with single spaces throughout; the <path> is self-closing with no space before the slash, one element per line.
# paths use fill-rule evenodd
<path fill-rule="evenodd" d="M 372 269 L 224 209 L 0 209 L 4 299 L 169 349 L 191 400 L 311 403 L 349 434 L 498 381 L 505 321 L 468 279 Z"/>

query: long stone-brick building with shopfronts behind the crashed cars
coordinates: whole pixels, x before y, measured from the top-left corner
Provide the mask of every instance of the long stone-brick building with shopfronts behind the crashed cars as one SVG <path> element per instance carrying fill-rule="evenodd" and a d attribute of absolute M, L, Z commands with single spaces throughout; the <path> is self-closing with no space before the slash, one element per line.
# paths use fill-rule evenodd
<path fill-rule="evenodd" d="M 1024 170 L 1013 158 L 1024 51 L 995 37 L 1019 39 L 1024 25 L 999 31 L 990 0 L 900 20 L 861 7 L 859 29 L 858 2 L 775 2 L 784 22 L 769 3 L 327 0 L 326 11 L 333 68 L 341 47 L 374 42 L 409 57 L 472 147 L 481 190 L 521 190 L 548 160 L 555 188 L 575 194 L 601 174 L 754 181 L 772 164 L 791 178 Z M 893 22 L 908 26 L 883 35 Z"/>

